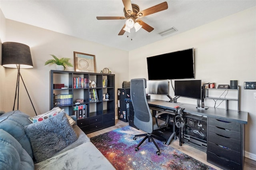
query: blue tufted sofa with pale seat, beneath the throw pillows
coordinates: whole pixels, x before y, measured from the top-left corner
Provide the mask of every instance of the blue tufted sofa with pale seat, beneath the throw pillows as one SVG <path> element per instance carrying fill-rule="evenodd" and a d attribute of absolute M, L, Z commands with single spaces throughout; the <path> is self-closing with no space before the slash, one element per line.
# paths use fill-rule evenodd
<path fill-rule="evenodd" d="M 57 119 L 57 116 L 54 117 Z M 54 117 L 51 119 L 55 119 Z M 76 121 L 76 117 L 72 117 L 72 119 Z M 74 142 L 72 141 L 65 148 L 54 152 L 50 158 L 47 157 L 49 155 L 46 155 L 47 159 L 38 162 L 34 155 L 38 151 L 35 151 L 34 146 L 35 144 L 43 146 L 44 142 L 32 141 L 35 139 L 28 135 L 28 127 L 32 126 L 30 124 L 32 122 L 29 120 L 29 115 L 21 111 L 0 112 L 1 170 L 115 169 L 77 125 L 67 126 L 75 132 Z M 73 132 L 72 129 L 69 131 Z M 54 139 L 54 136 L 52 138 Z M 51 144 L 50 141 L 45 142 L 45 144 L 47 143 Z M 52 151 L 49 151 L 52 154 Z"/>

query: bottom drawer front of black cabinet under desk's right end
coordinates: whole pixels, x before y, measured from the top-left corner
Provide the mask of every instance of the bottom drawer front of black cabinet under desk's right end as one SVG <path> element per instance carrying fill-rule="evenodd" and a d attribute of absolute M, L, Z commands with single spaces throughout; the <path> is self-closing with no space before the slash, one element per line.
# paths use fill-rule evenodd
<path fill-rule="evenodd" d="M 217 156 L 216 154 L 213 154 L 211 152 L 207 152 L 207 162 L 210 162 L 212 164 L 220 166 L 221 168 L 226 169 L 226 170 L 240 170 L 241 169 L 240 164 L 237 164 L 230 160 L 225 160 L 224 158 L 221 158 L 220 156 Z"/>

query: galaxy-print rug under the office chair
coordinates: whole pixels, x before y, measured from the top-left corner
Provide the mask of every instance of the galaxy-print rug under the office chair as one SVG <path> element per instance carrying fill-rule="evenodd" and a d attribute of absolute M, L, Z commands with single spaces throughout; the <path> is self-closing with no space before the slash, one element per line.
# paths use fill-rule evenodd
<path fill-rule="evenodd" d="M 117 170 L 215 170 L 159 140 L 155 141 L 160 148 L 160 156 L 156 154 L 154 143 L 148 140 L 136 152 L 135 147 L 144 136 L 133 140 L 135 134 L 142 132 L 126 126 L 90 140 Z"/>

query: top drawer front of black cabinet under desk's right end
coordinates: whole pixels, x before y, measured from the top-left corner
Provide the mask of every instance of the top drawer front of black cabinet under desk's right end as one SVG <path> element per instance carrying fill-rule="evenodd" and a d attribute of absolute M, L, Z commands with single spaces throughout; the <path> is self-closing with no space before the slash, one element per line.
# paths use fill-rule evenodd
<path fill-rule="evenodd" d="M 228 122 L 228 121 L 221 121 L 218 119 L 208 118 L 208 125 L 233 130 L 236 132 L 241 132 L 241 125 L 239 123 Z"/>

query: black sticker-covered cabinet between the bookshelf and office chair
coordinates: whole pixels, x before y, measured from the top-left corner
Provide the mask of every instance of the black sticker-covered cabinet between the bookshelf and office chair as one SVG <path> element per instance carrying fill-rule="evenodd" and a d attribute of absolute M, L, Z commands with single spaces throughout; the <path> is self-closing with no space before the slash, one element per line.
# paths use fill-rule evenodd
<path fill-rule="evenodd" d="M 128 122 L 125 99 L 130 98 L 130 89 L 117 89 L 118 119 Z"/>

